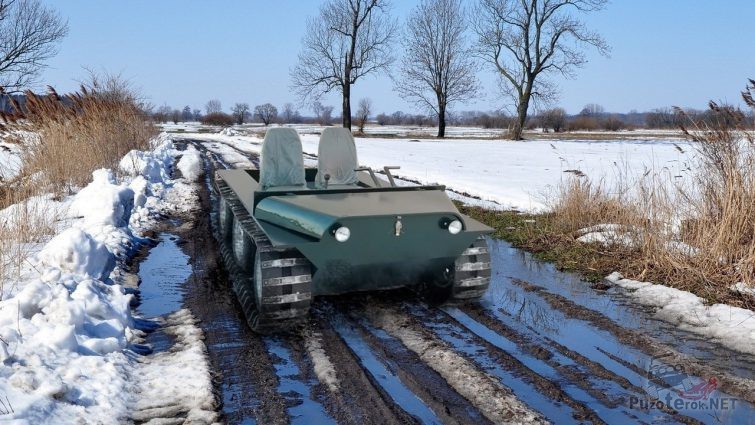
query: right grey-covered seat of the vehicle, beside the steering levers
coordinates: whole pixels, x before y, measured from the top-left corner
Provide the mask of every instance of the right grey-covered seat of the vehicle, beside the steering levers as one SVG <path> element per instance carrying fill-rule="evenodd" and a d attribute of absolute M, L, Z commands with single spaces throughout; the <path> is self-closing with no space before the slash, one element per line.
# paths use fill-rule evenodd
<path fill-rule="evenodd" d="M 317 148 L 318 187 L 325 186 L 325 174 L 330 174 L 328 185 L 353 185 L 359 178 L 354 169 L 359 167 L 357 148 L 351 130 L 341 127 L 328 127 L 320 136 Z"/>

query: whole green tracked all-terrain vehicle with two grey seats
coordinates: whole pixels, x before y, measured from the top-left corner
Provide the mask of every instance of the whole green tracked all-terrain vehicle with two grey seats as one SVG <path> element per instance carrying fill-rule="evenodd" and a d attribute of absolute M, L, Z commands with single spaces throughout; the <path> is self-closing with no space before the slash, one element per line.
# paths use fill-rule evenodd
<path fill-rule="evenodd" d="M 435 301 L 477 300 L 490 282 L 483 235 L 443 186 L 397 186 L 360 168 L 351 132 L 327 128 L 318 167 L 299 135 L 268 130 L 260 169 L 218 171 L 218 234 L 251 327 L 271 332 L 309 314 L 313 296 L 398 287 Z"/>

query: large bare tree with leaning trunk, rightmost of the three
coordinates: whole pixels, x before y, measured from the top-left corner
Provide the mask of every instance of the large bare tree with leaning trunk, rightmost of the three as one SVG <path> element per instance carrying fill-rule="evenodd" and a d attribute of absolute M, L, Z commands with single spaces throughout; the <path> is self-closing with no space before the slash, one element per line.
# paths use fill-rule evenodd
<path fill-rule="evenodd" d="M 547 76 L 574 75 L 585 64 L 586 47 L 607 55 L 603 38 L 585 28 L 571 12 L 603 9 L 607 0 L 479 0 L 474 11 L 479 56 L 500 74 L 501 85 L 516 105 L 511 138 L 522 138 L 534 102 L 556 96 Z"/>

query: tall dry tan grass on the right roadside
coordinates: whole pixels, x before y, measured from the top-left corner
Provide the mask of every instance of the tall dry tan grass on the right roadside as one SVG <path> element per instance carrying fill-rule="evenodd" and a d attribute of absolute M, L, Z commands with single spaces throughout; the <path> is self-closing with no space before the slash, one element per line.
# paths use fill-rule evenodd
<path fill-rule="evenodd" d="M 755 109 L 753 91 L 755 81 L 743 98 Z M 624 225 L 632 240 L 632 253 L 624 252 L 620 261 L 624 274 L 711 301 L 753 305 L 729 287 L 738 282 L 755 285 L 755 139 L 741 111 L 715 103 L 710 110 L 713 122 L 688 120 L 690 127 L 683 129 L 697 151 L 690 185 L 646 176 L 634 184 L 629 198 L 624 190 L 610 193 L 586 177 L 574 178 L 555 199 L 550 230 L 577 243 L 579 229 Z M 603 250 L 615 254 L 626 247 Z"/>

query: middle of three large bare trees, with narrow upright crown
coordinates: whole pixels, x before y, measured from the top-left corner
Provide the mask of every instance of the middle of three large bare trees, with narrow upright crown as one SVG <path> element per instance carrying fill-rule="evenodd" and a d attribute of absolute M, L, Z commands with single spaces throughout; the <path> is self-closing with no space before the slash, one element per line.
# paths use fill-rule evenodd
<path fill-rule="evenodd" d="M 446 135 L 449 106 L 477 94 L 466 27 L 460 0 L 423 0 L 406 22 L 396 89 L 438 117 L 438 137 Z"/>

